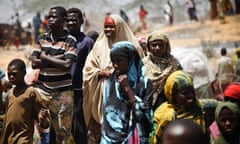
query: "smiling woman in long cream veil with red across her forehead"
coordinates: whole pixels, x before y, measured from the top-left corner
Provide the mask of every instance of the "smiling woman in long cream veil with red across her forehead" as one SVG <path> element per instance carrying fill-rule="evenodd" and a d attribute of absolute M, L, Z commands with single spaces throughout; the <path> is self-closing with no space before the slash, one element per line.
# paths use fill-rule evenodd
<path fill-rule="evenodd" d="M 100 125 L 102 123 L 102 91 L 105 80 L 113 71 L 110 60 L 112 44 L 127 40 L 137 48 L 143 56 L 136 37 L 119 15 L 105 18 L 104 31 L 100 33 L 93 49 L 87 56 L 83 68 L 83 112 L 88 130 L 94 135 L 94 141 L 100 140 Z"/>

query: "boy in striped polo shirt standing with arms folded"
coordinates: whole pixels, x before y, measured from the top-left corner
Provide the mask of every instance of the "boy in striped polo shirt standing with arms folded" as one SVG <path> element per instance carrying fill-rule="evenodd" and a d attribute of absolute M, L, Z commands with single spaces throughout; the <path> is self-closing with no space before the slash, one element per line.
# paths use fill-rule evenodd
<path fill-rule="evenodd" d="M 73 141 L 71 121 L 74 97 L 70 71 L 77 60 L 77 49 L 76 38 L 64 29 L 66 17 L 64 7 L 50 8 L 49 31 L 39 36 L 31 57 L 32 68 L 40 69 L 36 87 L 41 96 L 48 100 L 51 126 L 56 132 L 56 136 L 50 132 L 50 140 L 57 144 Z M 44 132 L 44 135 L 48 135 L 48 132 Z"/>

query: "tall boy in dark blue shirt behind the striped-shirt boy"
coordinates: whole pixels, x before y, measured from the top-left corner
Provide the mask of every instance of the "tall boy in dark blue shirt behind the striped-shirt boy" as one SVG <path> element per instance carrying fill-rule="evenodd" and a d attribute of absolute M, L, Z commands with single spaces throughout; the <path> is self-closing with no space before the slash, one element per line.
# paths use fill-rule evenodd
<path fill-rule="evenodd" d="M 72 86 L 74 92 L 74 109 L 72 134 L 75 143 L 87 144 L 87 129 L 83 117 L 83 91 L 82 91 L 82 71 L 88 53 L 93 47 L 94 41 L 80 32 L 83 24 L 83 14 L 78 8 L 70 8 L 67 11 L 67 28 L 72 36 L 77 40 L 77 60 L 73 63 Z"/>

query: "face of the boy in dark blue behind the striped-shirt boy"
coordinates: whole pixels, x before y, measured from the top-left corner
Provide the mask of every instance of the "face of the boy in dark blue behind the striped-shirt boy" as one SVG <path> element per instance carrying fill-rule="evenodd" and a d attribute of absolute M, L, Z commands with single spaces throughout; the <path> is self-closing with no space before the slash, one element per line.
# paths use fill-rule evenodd
<path fill-rule="evenodd" d="M 76 13 L 68 13 L 67 14 L 67 28 L 71 34 L 80 31 L 80 20 Z"/>

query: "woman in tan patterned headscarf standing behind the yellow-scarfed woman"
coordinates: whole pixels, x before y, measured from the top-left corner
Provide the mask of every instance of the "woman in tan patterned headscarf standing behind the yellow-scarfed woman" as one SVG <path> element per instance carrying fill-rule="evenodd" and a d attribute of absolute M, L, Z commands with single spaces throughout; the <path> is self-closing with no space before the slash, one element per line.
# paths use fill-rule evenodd
<path fill-rule="evenodd" d="M 166 35 L 154 31 L 147 39 L 147 56 L 143 58 L 146 74 L 153 83 L 153 109 L 166 101 L 164 85 L 167 77 L 174 71 L 181 69 L 177 59 L 170 54 L 171 46 Z"/>

